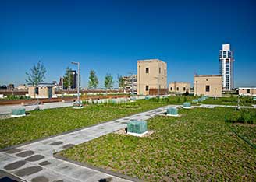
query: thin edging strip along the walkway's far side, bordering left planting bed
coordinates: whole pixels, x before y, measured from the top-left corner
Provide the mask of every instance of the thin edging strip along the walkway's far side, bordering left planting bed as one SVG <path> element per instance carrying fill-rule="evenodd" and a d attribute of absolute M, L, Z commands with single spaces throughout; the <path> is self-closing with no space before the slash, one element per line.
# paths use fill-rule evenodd
<path fill-rule="evenodd" d="M 167 106 L 162 106 L 163 108 L 167 107 Z M 157 107 L 153 110 L 158 110 L 159 108 L 162 108 L 162 107 Z M 145 113 L 145 112 L 150 112 L 152 110 L 147 110 L 147 111 L 144 111 L 144 112 L 141 112 L 141 113 Z M 138 114 L 138 113 L 137 113 Z M 17 144 L 17 145 L 12 145 L 12 146 L 8 146 L 8 147 L 5 147 L 3 149 L 0 149 L 0 152 L 5 152 L 5 151 L 8 151 L 10 149 L 15 149 L 15 148 L 18 148 L 18 147 L 22 147 L 24 145 L 29 145 L 29 144 L 32 144 L 32 143 L 35 143 L 35 142 L 41 142 L 43 140 L 46 140 L 46 139 L 49 139 L 49 138 L 55 138 L 57 136 L 61 136 L 61 135 L 66 135 L 66 134 L 69 134 L 69 133 L 73 133 L 75 131 L 81 131 L 81 130 L 84 130 L 86 128 L 91 128 L 91 127 L 94 127 L 94 126 L 98 126 L 100 124 L 105 124 L 105 123 L 108 123 L 108 122 L 113 122 L 113 121 L 116 121 L 116 120 L 119 120 L 119 119 L 122 119 L 122 118 L 125 118 L 125 117 L 132 117 L 132 116 L 135 116 L 137 114 L 132 114 L 132 115 L 128 115 L 128 116 L 124 116 L 124 117 L 120 117 L 120 118 L 116 118 L 116 119 L 113 119 L 111 121 L 103 121 L 101 123 L 98 123 L 98 124 L 93 124 L 93 125 L 90 125 L 90 126 L 86 126 L 86 127 L 83 127 L 83 128 L 76 128 L 76 129 L 73 129 L 73 130 L 70 130 L 70 131 L 65 131 L 63 133 L 59 133 L 59 134 L 56 134 L 56 135 L 51 135 L 51 136 L 48 136 L 48 137 L 43 137 L 43 138 L 38 138 L 38 139 L 34 139 L 34 140 L 31 140 L 31 141 L 28 141 L 28 142 L 23 142 L 21 144 Z"/>

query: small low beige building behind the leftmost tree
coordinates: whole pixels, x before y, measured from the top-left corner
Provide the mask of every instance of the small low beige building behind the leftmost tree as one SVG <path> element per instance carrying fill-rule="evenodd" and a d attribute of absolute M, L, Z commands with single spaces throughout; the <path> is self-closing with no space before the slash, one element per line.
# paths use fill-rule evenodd
<path fill-rule="evenodd" d="M 52 98 L 55 94 L 54 84 L 41 83 L 36 88 L 29 85 L 28 94 L 31 98 Z"/>

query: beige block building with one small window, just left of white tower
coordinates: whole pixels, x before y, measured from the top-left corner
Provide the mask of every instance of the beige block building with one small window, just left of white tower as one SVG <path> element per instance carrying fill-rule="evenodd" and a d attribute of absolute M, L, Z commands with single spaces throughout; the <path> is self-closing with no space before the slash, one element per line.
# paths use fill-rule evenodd
<path fill-rule="evenodd" d="M 222 75 L 194 75 L 194 96 L 222 96 Z"/>

